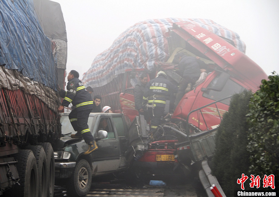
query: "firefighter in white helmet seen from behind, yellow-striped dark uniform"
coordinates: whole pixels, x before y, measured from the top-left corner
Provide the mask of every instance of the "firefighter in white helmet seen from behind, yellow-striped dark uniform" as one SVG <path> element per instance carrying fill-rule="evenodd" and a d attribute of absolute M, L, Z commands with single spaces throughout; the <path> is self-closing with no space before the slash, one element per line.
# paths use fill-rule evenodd
<path fill-rule="evenodd" d="M 147 83 L 147 91 L 143 95 L 145 103 L 148 102 L 148 111 L 151 114 L 150 132 L 157 129 L 165 111 L 166 98 L 176 93 L 178 87 L 167 79 L 164 71 L 159 71 L 156 78 Z"/>

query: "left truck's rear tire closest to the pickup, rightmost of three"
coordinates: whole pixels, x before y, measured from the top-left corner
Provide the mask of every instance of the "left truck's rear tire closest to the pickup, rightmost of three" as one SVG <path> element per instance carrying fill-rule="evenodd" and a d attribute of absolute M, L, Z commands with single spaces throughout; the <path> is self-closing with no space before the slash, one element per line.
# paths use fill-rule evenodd
<path fill-rule="evenodd" d="M 55 169 L 54 169 L 54 153 L 53 148 L 49 142 L 38 143 L 43 146 L 46 153 L 46 173 L 48 175 L 47 181 L 47 197 L 53 197 L 54 195 L 54 180 L 55 180 Z"/>

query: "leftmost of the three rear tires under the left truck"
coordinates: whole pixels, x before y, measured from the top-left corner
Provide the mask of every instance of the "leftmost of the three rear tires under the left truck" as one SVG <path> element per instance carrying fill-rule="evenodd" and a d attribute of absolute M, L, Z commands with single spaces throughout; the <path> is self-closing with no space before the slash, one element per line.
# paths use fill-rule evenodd
<path fill-rule="evenodd" d="M 9 196 L 36 197 L 38 196 L 38 169 L 36 158 L 31 150 L 19 150 L 13 155 L 18 161 L 16 169 L 19 173 L 19 184 L 15 184 Z M 8 192 L 7 191 L 7 192 Z"/>

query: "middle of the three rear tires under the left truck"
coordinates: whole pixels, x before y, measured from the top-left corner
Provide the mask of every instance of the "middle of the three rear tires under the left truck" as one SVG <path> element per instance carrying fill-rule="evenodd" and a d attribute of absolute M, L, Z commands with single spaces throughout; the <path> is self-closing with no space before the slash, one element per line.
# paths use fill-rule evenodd
<path fill-rule="evenodd" d="M 26 146 L 25 149 L 33 151 L 36 158 L 39 177 L 39 196 L 47 197 L 47 172 L 46 172 L 46 153 L 43 146 Z"/>

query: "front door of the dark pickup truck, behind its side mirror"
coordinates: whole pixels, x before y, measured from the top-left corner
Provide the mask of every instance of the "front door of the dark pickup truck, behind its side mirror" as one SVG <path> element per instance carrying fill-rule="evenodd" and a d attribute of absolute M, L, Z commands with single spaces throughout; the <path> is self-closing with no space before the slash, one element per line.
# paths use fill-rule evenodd
<path fill-rule="evenodd" d="M 94 130 L 107 131 L 107 138 L 97 141 L 98 150 L 93 154 L 93 174 L 104 174 L 109 171 L 115 171 L 120 165 L 120 144 L 117 132 L 113 127 L 111 117 L 100 115 L 97 118 Z M 96 137 L 96 136 L 95 136 Z M 96 174 L 96 175 L 97 175 Z"/>

